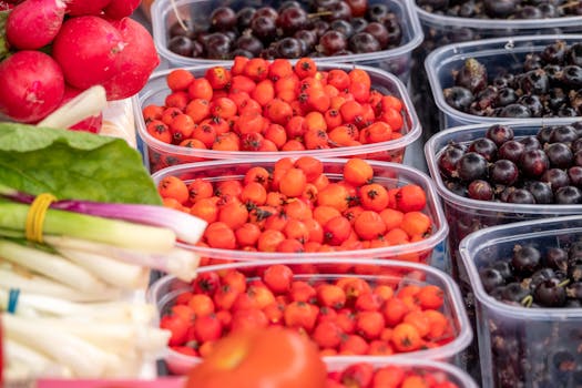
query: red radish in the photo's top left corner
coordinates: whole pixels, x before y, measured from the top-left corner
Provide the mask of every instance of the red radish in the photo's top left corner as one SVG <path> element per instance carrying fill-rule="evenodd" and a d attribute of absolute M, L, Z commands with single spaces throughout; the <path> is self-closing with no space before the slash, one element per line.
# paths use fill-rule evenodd
<path fill-rule="evenodd" d="M 64 19 L 61 0 L 27 0 L 8 14 L 6 34 L 19 50 L 40 49 L 54 39 Z"/>

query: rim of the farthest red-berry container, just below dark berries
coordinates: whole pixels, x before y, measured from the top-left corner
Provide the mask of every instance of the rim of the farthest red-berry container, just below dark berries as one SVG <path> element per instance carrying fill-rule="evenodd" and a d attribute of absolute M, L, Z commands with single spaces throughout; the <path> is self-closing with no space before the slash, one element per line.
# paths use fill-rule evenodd
<path fill-rule="evenodd" d="M 296 61 L 297 60 L 292 60 L 292 62 L 296 62 Z M 232 65 L 232 64 L 233 64 L 232 62 L 228 62 L 228 65 Z M 184 68 L 184 70 L 187 70 L 190 72 L 196 72 L 196 71 L 207 70 L 215 65 L 221 65 L 221 64 L 188 67 L 188 68 Z M 325 70 L 331 70 L 331 69 L 351 70 L 355 67 L 353 64 L 331 63 L 331 62 L 318 63 L 317 65 L 318 68 L 324 67 Z M 142 104 L 147 98 L 151 96 L 152 93 L 155 92 L 153 90 L 147 91 L 143 94 L 139 93 L 132 98 L 133 99 L 132 105 L 133 105 L 134 116 L 136 121 L 137 134 L 144 141 L 145 143 L 144 146 L 153 147 L 161 152 L 177 154 L 181 156 L 193 156 L 192 154 L 195 153 L 197 157 L 215 159 L 215 160 L 224 160 L 224 159 L 229 160 L 229 159 L 244 159 L 244 157 L 264 159 L 264 157 L 276 157 L 276 156 L 279 156 L 279 157 L 317 156 L 321 154 L 323 152 L 325 152 L 329 157 L 349 156 L 349 155 L 357 155 L 357 154 L 399 150 L 399 149 L 405 149 L 407 145 L 412 144 L 416 140 L 420 137 L 422 130 L 420 127 L 420 120 L 418 119 L 412 101 L 410 100 L 410 96 L 408 95 L 408 92 L 406 91 L 406 86 L 404 85 L 402 81 L 400 81 L 396 75 L 387 71 L 384 71 L 381 69 L 376 69 L 376 68 L 370 68 L 367 65 L 359 65 L 359 64 L 357 64 L 356 67 L 358 69 L 365 70 L 368 73 L 376 73 L 378 76 L 381 76 L 392 82 L 396 85 L 396 89 L 398 93 L 400 94 L 399 98 L 400 100 L 402 100 L 404 105 L 406 106 L 406 114 L 410 118 L 410 122 L 411 122 L 410 130 L 407 134 L 396 140 L 389 140 L 389 141 L 380 142 L 380 143 L 363 144 L 363 145 L 355 145 L 355 146 L 341 146 L 341 147 L 327 149 L 327 150 L 267 151 L 267 152 L 259 152 L 259 151 L 224 152 L 224 151 L 202 150 L 202 149 L 193 150 L 193 149 L 188 149 L 184 146 L 178 146 L 178 145 L 161 142 L 157 139 L 154 139 L 153 136 L 151 136 L 147 133 L 147 131 L 145 131 L 145 122 L 142 115 Z M 175 69 L 155 71 L 150 76 L 149 82 L 153 80 L 159 80 L 160 78 L 165 78 L 170 72 L 172 72 L 172 70 L 175 70 Z"/>

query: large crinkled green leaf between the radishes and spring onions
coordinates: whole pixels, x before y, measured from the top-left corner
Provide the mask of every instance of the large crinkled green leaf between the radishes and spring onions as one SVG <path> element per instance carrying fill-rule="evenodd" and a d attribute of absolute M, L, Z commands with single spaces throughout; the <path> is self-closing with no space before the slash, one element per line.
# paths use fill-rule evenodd
<path fill-rule="evenodd" d="M 0 123 L 0 182 L 59 200 L 161 204 L 136 150 L 86 132 Z"/>

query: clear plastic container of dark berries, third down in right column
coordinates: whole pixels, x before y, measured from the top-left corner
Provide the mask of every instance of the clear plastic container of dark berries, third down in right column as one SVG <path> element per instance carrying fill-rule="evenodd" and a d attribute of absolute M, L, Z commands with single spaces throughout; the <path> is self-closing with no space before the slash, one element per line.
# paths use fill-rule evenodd
<path fill-rule="evenodd" d="M 552 125 L 568 124 L 579 120 L 580 119 L 557 119 L 551 120 L 551 123 Z M 497 121 L 496 123 L 501 122 Z M 506 123 L 513 129 L 515 137 L 534 135 L 542 126 L 538 120 L 522 120 Z M 547 124 L 545 121 L 544 124 Z M 524 219 L 582 214 L 582 205 L 525 205 L 477 201 L 457 195 L 448 190 L 439 173 L 438 156 L 440 152 L 451 142 L 470 143 L 476 139 L 484 137 L 486 131 L 490 125 L 491 124 L 474 124 L 441 131 L 430 137 L 425 144 L 428 169 L 437 186 L 437 192 L 442 200 L 442 207 L 449 223 L 448 243 L 452 258 L 452 275 L 455 279 L 467 280 L 460 273 L 462 266 L 460 265 L 458 247 L 461 239 L 469 233 L 489 226 Z"/>

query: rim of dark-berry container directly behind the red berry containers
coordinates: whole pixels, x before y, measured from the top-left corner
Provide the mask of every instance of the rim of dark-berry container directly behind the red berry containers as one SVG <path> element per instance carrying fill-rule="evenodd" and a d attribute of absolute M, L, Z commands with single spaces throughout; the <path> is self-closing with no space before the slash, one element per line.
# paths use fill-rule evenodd
<path fill-rule="evenodd" d="M 200 2 L 203 0 L 175 0 L 176 8 L 190 3 Z M 413 10 L 413 0 L 404 0 L 398 1 L 404 4 L 402 7 L 402 14 L 406 16 L 407 23 L 411 27 L 412 37 L 410 41 L 408 41 L 406 44 L 399 45 L 398 48 L 389 49 L 389 50 L 382 50 L 377 52 L 368 52 L 368 53 L 361 53 L 361 54 L 349 54 L 349 55 L 333 55 L 333 57 L 326 57 L 326 58 L 314 58 L 316 62 L 341 62 L 341 63 L 348 63 L 348 62 L 364 62 L 364 61 L 380 61 L 386 60 L 391 57 L 399 57 L 402 54 L 406 54 L 408 52 L 412 52 L 413 49 L 419 47 L 422 41 L 425 40 L 425 34 L 422 32 L 422 27 L 420 25 L 420 20 L 418 18 L 417 12 Z M 165 33 L 166 31 L 163 31 L 163 27 L 165 25 L 165 21 L 161 20 L 161 18 L 166 13 L 164 10 L 167 8 L 169 1 L 166 0 L 157 0 L 154 1 L 152 4 L 152 34 L 155 42 L 165 42 Z M 228 64 L 232 61 L 224 61 L 224 60 L 210 60 L 210 59 L 200 59 L 200 58 L 187 58 L 184 55 L 177 55 L 170 51 L 165 44 L 156 44 L 161 45 L 157 48 L 157 51 L 162 57 L 167 59 L 172 63 L 182 63 L 182 64 L 190 64 L 193 65 L 194 63 L 198 65 L 205 65 L 205 64 Z"/>

